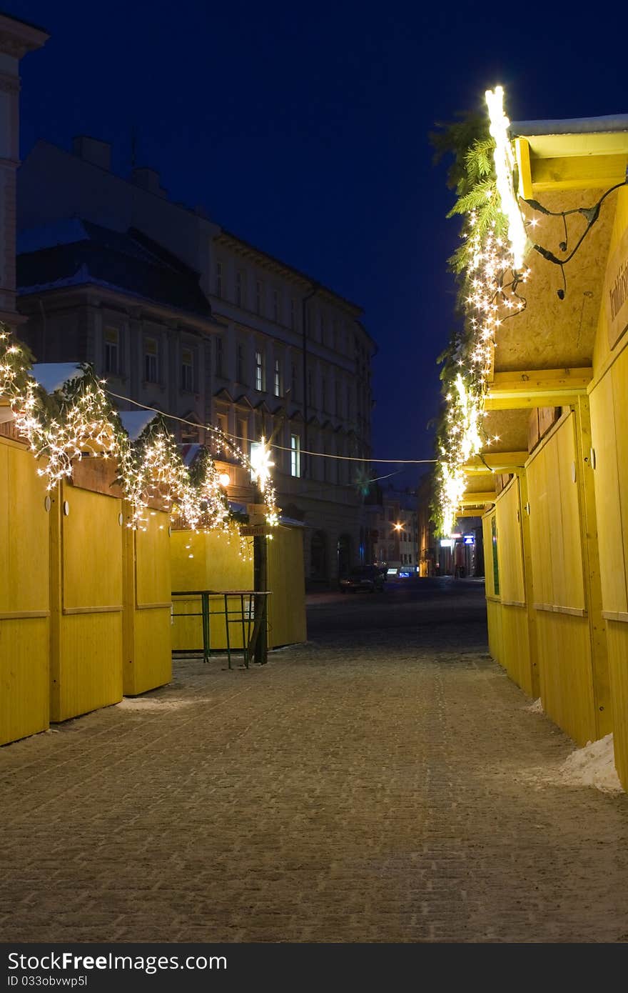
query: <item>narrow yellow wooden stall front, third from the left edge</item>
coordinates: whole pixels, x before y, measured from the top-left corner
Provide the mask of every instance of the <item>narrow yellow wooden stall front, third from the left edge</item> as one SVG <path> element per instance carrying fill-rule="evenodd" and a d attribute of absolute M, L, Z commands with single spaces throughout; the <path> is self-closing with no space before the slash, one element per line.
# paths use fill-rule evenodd
<path fill-rule="evenodd" d="M 164 686 L 173 671 L 170 520 L 162 510 L 148 511 L 146 519 L 145 530 L 124 534 L 125 696 Z"/>

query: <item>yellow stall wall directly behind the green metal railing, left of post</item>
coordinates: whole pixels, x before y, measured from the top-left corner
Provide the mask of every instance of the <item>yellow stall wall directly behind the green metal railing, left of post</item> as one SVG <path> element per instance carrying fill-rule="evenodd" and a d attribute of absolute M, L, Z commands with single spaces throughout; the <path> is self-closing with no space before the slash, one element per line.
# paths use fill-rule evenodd
<path fill-rule="evenodd" d="M 172 588 L 175 592 L 186 590 L 252 590 L 253 589 L 253 539 L 247 539 L 251 558 L 242 558 L 237 536 L 229 538 L 220 532 L 173 530 L 171 536 Z M 228 609 L 238 611 L 240 598 L 229 597 Z M 224 601 L 222 597 L 209 601 L 210 648 L 226 648 Z M 200 600 L 174 598 L 172 649 L 197 651 L 202 648 L 202 622 L 199 616 L 182 615 L 200 613 Z M 236 615 L 233 615 L 235 620 Z M 229 628 L 232 648 L 241 649 L 242 629 L 238 624 Z"/>

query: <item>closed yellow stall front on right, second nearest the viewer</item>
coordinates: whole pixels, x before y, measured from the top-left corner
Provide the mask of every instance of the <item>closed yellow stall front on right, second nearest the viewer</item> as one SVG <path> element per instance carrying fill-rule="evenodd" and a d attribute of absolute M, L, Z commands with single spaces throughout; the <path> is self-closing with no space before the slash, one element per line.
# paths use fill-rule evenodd
<path fill-rule="evenodd" d="M 598 703 L 605 657 L 592 649 L 576 431 L 575 413 L 565 413 L 526 468 L 541 697 L 546 713 L 584 745 L 608 733 L 610 714 Z"/>

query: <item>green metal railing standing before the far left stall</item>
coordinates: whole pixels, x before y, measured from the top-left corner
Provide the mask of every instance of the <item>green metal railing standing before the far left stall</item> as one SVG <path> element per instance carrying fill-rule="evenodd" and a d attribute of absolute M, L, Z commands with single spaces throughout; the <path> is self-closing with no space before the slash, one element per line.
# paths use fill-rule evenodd
<path fill-rule="evenodd" d="M 242 651 L 244 655 L 244 665 L 248 669 L 251 658 L 255 657 L 255 649 L 260 644 L 265 644 L 265 639 L 260 638 L 261 632 L 264 630 L 266 624 L 267 616 L 267 604 L 268 597 L 270 597 L 270 592 L 261 592 L 257 590 L 183 590 L 173 592 L 173 619 L 186 618 L 186 617 L 199 617 L 201 618 L 202 627 L 202 648 L 188 648 L 180 649 L 173 652 L 173 654 L 200 654 L 202 652 L 203 662 L 208 662 L 211 652 L 214 653 L 224 652 L 224 647 L 211 647 L 211 621 L 212 619 L 221 618 L 224 619 L 224 631 L 226 637 L 226 652 L 227 652 L 227 664 L 231 668 L 231 654 L 235 651 Z M 180 600 L 192 600 L 199 598 L 200 610 L 199 611 L 175 611 L 176 598 Z M 223 603 L 222 610 L 210 610 L 210 600 L 215 600 L 216 598 L 221 598 Z M 232 605 L 229 603 L 229 598 L 237 598 L 239 600 L 239 606 L 234 610 Z M 231 607 L 231 609 L 230 609 Z M 214 620 L 215 623 L 215 620 Z M 230 628 L 233 625 L 238 625 L 242 633 L 242 648 L 235 648 L 231 646 L 231 633 Z M 262 652 L 262 657 L 259 659 L 261 664 L 268 661 L 268 649 L 264 649 Z"/>

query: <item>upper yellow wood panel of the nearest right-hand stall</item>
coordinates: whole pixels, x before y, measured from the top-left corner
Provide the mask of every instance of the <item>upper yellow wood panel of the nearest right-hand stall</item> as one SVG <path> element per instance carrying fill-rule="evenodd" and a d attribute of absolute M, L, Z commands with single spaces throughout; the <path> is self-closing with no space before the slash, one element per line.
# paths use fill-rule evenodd
<path fill-rule="evenodd" d="M 593 481 L 597 510 L 602 608 L 605 611 L 626 613 L 628 597 L 624 558 L 624 513 L 620 500 L 613 378 L 610 372 L 591 392 L 590 404 L 591 433 L 595 452 Z M 628 521 L 628 504 L 626 520 Z"/>

